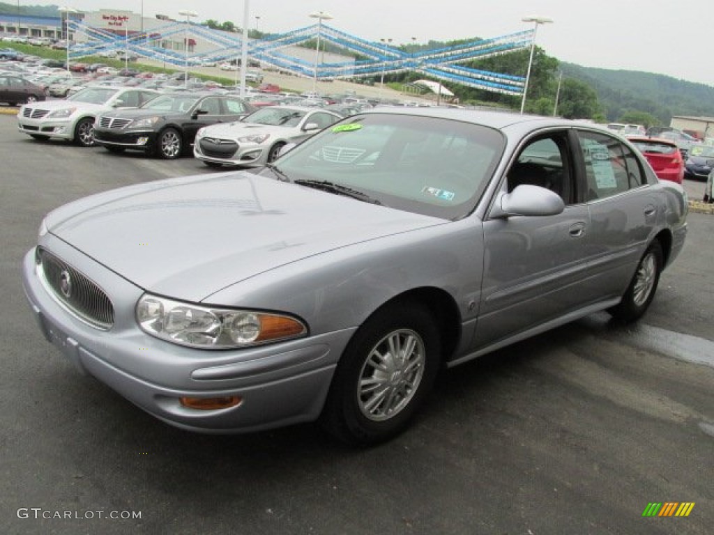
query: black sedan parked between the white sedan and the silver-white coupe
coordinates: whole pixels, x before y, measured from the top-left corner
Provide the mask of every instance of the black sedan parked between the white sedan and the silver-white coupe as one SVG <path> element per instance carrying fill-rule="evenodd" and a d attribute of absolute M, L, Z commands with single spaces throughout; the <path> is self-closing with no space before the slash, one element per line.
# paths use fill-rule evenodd
<path fill-rule="evenodd" d="M 238 121 L 255 109 L 238 96 L 166 93 L 141 108 L 101 114 L 94 141 L 113 152 L 130 149 L 171 160 L 191 153 L 199 128 Z"/>

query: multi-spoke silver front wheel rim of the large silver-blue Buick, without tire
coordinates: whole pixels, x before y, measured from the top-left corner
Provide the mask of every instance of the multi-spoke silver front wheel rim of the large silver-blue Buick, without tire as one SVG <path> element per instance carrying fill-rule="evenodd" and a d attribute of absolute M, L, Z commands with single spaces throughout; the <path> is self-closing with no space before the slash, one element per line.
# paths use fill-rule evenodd
<path fill-rule="evenodd" d="M 358 406 L 373 422 L 383 422 L 401 412 L 424 374 L 426 349 L 421 337 L 409 329 L 390 332 L 369 352 L 358 387 Z"/>

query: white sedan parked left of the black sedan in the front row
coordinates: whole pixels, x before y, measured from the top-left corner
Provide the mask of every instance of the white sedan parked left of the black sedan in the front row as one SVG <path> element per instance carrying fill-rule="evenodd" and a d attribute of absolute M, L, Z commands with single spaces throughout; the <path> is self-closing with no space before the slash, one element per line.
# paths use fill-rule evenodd
<path fill-rule="evenodd" d="M 115 108 L 138 108 L 159 91 L 134 87 L 91 86 L 64 100 L 28 103 L 17 114 L 17 128 L 31 138 L 94 145 L 94 119 Z"/>

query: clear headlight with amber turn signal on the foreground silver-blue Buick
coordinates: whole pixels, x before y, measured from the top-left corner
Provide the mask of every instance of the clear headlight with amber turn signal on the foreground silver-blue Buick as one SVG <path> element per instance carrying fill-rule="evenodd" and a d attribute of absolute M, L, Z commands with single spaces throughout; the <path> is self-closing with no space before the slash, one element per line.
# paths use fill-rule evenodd
<path fill-rule="evenodd" d="M 149 335 L 203 349 L 249 347 L 307 334 L 305 324 L 288 315 L 204 307 L 150 294 L 139 299 L 136 321 Z"/>

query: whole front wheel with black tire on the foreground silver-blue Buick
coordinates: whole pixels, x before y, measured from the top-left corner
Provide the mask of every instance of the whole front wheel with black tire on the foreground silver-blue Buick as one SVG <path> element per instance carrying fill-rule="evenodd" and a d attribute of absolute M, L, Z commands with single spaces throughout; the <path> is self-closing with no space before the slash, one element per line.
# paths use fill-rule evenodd
<path fill-rule="evenodd" d="M 397 345 L 405 355 L 394 359 Z M 375 312 L 338 363 L 321 424 L 348 444 L 376 444 L 408 425 L 433 386 L 441 341 L 422 305 L 402 302 Z"/>

